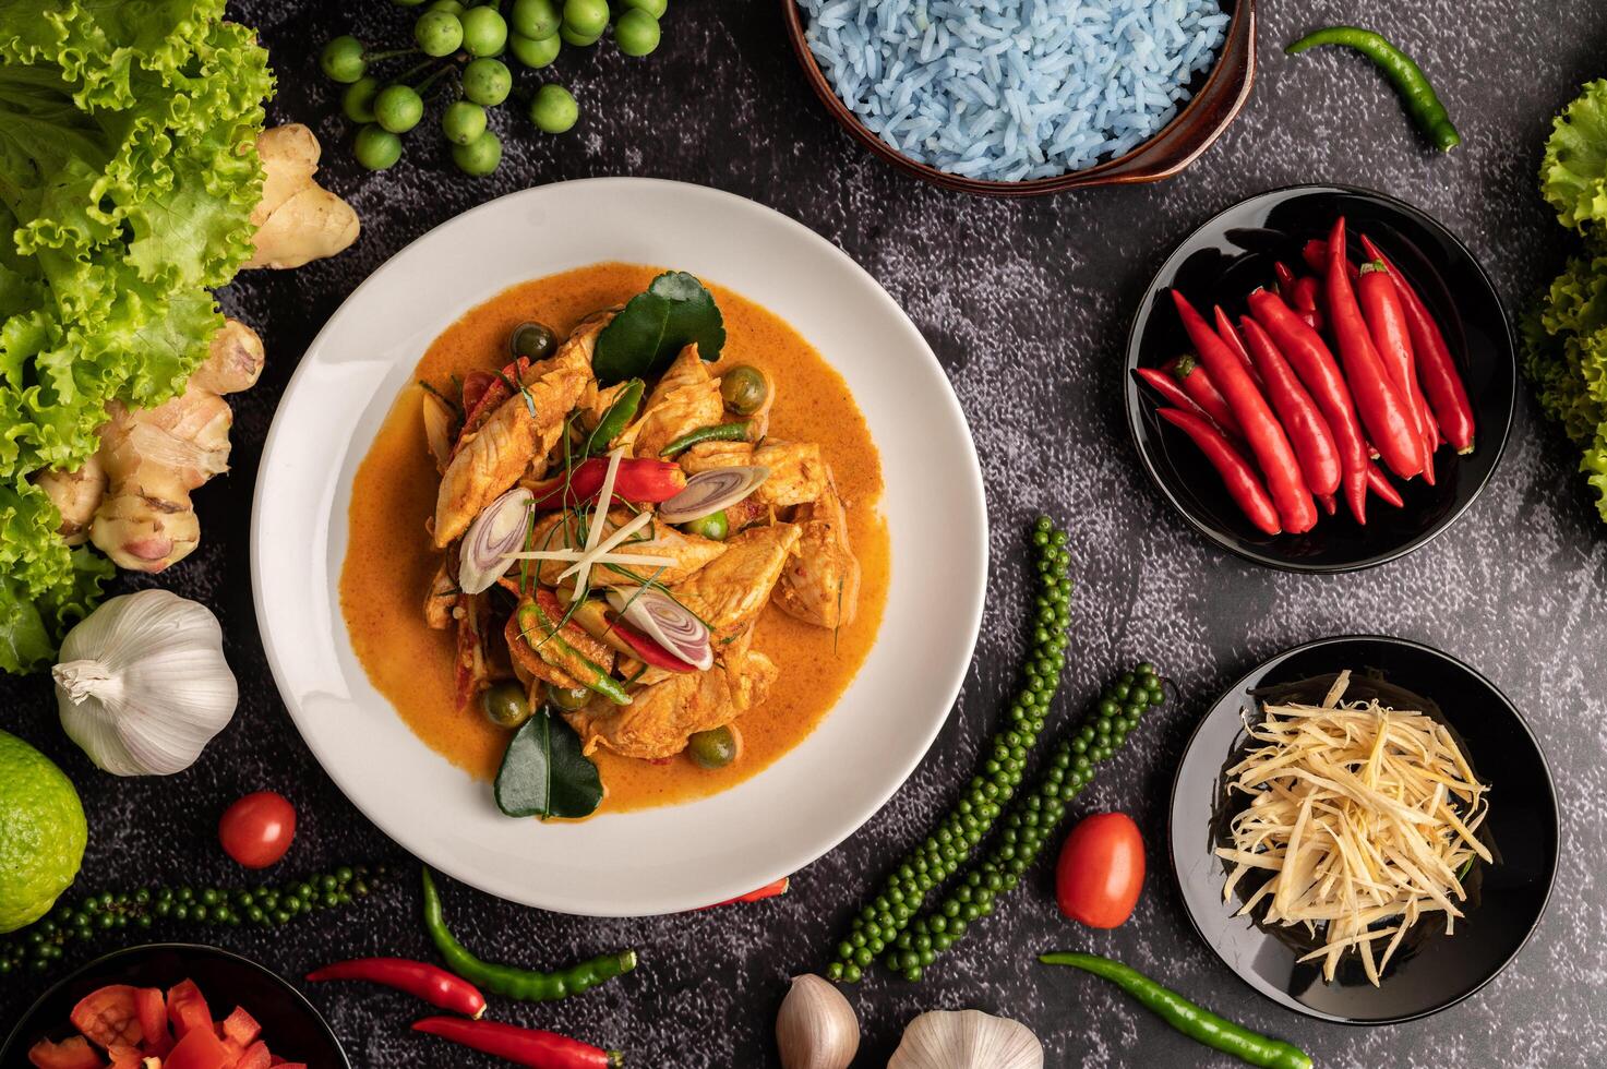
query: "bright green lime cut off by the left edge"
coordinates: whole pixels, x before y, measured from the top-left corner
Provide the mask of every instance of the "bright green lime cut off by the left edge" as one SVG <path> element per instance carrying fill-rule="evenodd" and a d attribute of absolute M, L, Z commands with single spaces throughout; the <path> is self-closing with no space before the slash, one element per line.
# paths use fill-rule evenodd
<path fill-rule="evenodd" d="M 61 768 L 0 731 L 0 932 L 43 916 L 72 886 L 88 825 Z"/>

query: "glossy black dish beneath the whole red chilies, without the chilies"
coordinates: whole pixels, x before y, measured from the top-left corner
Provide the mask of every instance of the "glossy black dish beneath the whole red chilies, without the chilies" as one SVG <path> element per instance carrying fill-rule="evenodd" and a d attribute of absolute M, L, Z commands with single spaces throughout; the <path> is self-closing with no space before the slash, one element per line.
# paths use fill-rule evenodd
<path fill-rule="evenodd" d="M 1403 508 L 1372 498 L 1368 524 L 1343 508 L 1302 535 L 1265 535 L 1237 510 L 1194 442 L 1155 415 L 1133 368 L 1159 367 L 1191 349 L 1168 289 L 1181 289 L 1207 317 L 1213 304 L 1237 320 L 1257 286 L 1273 285 L 1273 264 L 1303 270 L 1302 246 L 1327 238 L 1345 215 L 1351 243 L 1371 236 L 1413 283 L 1445 331 L 1474 405 L 1474 452 L 1435 453 L 1438 485 L 1413 479 L 1396 489 Z M 1360 246 L 1358 246 L 1360 248 Z M 1501 297 L 1456 236 L 1421 211 L 1382 193 L 1306 185 L 1260 193 L 1215 215 L 1178 249 L 1144 291 L 1127 342 L 1127 420 L 1149 476 L 1183 518 L 1239 556 L 1297 572 L 1345 572 L 1393 561 L 1450 527 L 1490 481 L 1512 424 L 1517 355 Z"/>

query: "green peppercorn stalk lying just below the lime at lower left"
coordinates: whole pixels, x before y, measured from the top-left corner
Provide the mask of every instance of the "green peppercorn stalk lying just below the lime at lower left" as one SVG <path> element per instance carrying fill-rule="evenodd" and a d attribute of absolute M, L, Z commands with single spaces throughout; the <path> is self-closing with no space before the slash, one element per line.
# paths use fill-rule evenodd
<path fill-rule="evenodd" d="M 286 924 L 313 910 L 333 910 L 368 897 L 384 865 L 341 865 L 305 879 L 260 887 L 140 887 L 92 894 L 77 905 L 58 903 L 45 918 L 0 940 L 0 976 L 43 973 L 66 956 L 72 942 L 88 944 L 101 932 L 148 929 L 174 921 L 186 924 Z"/>

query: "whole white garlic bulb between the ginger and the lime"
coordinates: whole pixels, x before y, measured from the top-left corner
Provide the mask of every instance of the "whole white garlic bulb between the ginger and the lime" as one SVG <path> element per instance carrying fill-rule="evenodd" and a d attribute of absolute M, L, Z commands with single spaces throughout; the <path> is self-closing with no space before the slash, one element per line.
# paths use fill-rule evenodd
<path fill-rule="evenodd" d="M 125 593 L 90 612 L 61 643 L 51 675 L 61 727 L 119 776 L 183 772 L 239 698 L 217 617 L 169 590 Z"/>

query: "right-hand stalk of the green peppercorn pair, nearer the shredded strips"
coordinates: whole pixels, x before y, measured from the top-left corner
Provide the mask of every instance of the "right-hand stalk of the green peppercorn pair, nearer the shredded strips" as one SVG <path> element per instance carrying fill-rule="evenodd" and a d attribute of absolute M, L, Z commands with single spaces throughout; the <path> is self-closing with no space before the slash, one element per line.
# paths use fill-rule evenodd
<path fill-rule="evenodd" d="M 998 841 L 958 887 L 937 907 L 902 932 L 884 963 L 906 981 L 921 979 L 921 971 L 937 955 L 964 937 L 966 929 L 990 915 L 1000 895 L 1020 883 L 1046 842 L 1065 817 L 1065 805 L 1082 794 L 1096 765 L 1122 749 L 1138 719 L 1167 701 L 1165 688 L 1152 664 L 1139 664 L 1106 686 L 1099 704 L 1077 730 L 1049 754 L 1049 764 L 1032 791 L 1011 805 Z"/>

